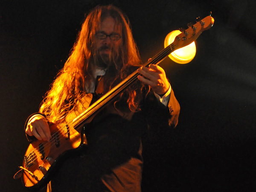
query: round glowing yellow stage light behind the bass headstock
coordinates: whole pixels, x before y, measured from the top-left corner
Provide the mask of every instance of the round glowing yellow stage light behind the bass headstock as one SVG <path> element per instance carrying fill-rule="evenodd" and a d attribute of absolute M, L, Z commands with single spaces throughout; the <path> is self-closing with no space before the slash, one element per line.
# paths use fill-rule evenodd
<path fill-rule="evenodd" d="M 164 40 L 164 47 L 167 47 L 169 44 L 172 44 L 175 37 L 180 33 L 181 32 L 179 30 L 170 32 Z M 195 41 L 193 41 L 191 44 L 172 52 L 169 55 L 169 58 L 171 58 L 172 61 L 175 61 L 176 63 L 186 64 L 192 61 L 192 59 L 195 57 L 195 52 L 196 52 Z"/>

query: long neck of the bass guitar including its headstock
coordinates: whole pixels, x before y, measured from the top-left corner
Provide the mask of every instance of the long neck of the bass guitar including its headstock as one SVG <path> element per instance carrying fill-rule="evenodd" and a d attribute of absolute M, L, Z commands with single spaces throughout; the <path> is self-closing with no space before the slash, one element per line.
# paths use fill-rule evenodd
<path fill-rule="evenodd" d="M 159 52 L 157 55 L 155 55 L 151 60 L 143 64 L 143 67 L 148 67 L 150 64 L 156 64 L 156 65 L 159 64 L 171 52 L 175 51 L 176 49 L 185 47 L 186 45 L 189 45 L 190 43 L 195 41 L 204 30 L 211 28 L 213 23 L 214 23 L 214 19 L 211 16 L 207 16 L 204 19 L 198 21 L 193 26 L 186 29 L 186 31 L 184 31 L 183 33 L 180 33 L 179 35 L 177 35 L 172 44 L 170 44 L 161 52 Z M 106 93 L 104 96 L 102 96 L 92 105 L 90 105 L 89 108 L 87 108 L 84 112 L 82 112 L 70 123 L 72 123 L 73 125 L 79 125 L 85 119 L 89 119 L 90 117 L 92 117 L 100 109 L 105 107 L 106 104 L 113 101 L 113 99 L 115 99 L 116 96 L 122 93 L 123 90 L 127 89 L 127 87 L 129 87 L 131 84 L 137 81 L 138 75 L 140 75 L 140 73 L 138 73 L 137 70 L 134 71 L 134 73 L 129 75 L 119 84 L 117 84 L 116 87 L 111 89 L 108 93 Z"/>

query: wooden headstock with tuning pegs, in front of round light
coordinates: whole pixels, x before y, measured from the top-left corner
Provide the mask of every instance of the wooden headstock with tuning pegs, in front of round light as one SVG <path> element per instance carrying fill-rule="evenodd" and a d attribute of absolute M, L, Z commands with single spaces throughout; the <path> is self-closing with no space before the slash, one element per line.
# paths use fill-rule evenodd
<path fill-rule="evenodd" d="M 214 19 L 211 16 L 204 17 L 197 23 L 188 23 L 188 29 L 181 30 L 182 32 L 176 36 L 172 43 L 172 51 L 180 49 L 191 44 L 195 41 L 201 33 L 207 29 L 210 29 L 214 23 Z"/>

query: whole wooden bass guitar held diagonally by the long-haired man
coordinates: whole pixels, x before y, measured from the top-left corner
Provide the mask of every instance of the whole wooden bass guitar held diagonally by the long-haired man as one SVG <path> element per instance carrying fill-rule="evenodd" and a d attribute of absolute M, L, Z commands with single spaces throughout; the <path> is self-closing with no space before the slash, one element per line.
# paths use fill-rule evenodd
<path fill-rule="evenodd" d="M 213 23 L 214 19 L 211 16 L 198 21 L 177 35 L 172 44 L 143 66 L 159 64 L 171 52 L 195 41 L 204 30 L 211 28 Z M 49 125 L 52 135 L 50 141 L 36 140 L 29 144 L 23 157 L 22 166 L 19 166 L 20 171 L 15 174 L 14 178 L 22 177 L 24 186 L 29 190 L 36 191 L 45 186 L 49 182 L 56 164 L 67 151 L 87 145 L 82 125 L 90 122 L 97 112 L 137 81 L 138 75 L 139 73 L 135 71 L 92 105 L 90 105 L 92 94 L 84 94 L 80 103 L 60 123 Z"/>

